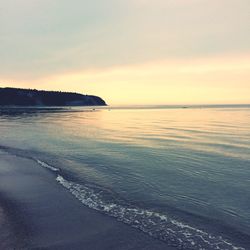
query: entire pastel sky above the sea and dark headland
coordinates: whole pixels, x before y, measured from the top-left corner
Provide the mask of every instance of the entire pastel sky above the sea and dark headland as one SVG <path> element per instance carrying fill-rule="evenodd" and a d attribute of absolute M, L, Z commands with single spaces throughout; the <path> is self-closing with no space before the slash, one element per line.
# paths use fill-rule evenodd
<path fill-rule="evenodd" d="M 110 105 L 250 103 L 249 0 L 0 3 L 0 87 Z"/>

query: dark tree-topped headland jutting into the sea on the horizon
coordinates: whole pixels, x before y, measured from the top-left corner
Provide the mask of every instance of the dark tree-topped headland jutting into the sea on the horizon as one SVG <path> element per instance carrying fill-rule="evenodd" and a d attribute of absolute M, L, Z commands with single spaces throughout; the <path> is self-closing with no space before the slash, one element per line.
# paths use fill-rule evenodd
<path fill-rule="evenodd" d="M 98 96 L 78 93 L 0 88 L 0 106 L 106 106 Z"/>

